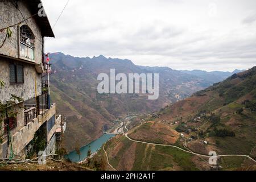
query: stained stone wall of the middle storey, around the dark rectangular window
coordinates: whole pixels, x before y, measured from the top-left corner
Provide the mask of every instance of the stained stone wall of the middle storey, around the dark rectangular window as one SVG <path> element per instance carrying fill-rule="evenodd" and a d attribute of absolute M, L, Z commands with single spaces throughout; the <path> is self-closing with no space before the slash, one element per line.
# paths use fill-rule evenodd
<path fill-rule="evenodd" d="M 22 97 L 24 101 L 42 94 L 42 78 L 32 64 L 23 63 L 24 84 L 10 84 L 9 63 L 17 61 L 0 57 L 0 80 L 5 82 L 5 87 L 0 88 L 0 101 L 11 98 L 11 94 Z M 20 61 L 18 61 L 20 63 Z"/>

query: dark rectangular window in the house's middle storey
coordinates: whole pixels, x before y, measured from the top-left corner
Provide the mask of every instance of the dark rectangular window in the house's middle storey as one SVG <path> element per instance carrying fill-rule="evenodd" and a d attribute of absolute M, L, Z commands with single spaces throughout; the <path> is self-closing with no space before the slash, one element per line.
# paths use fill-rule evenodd
<path fill-rule="evenodd" d="M 11 84 L 24 83 L 23 65 L 10 64 L 10 82 Z"/>

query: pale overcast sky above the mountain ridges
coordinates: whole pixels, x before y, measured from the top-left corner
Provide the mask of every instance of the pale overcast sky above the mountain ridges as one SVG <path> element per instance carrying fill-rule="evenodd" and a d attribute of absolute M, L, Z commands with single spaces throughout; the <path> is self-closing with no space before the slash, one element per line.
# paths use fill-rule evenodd
<path fill-rule="evenodd" d="M 52 26 L 66 3 L 43 0 Z M 48 52 L 179 70 L 256 65 L 255 0 L 70 0 L 53 31 Z"/>

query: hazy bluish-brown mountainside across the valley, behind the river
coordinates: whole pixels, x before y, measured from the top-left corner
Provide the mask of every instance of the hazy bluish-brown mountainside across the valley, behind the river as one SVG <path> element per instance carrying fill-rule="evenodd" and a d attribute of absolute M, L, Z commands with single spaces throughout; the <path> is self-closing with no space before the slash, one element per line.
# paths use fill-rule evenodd
<path fill-rule="evenodd" d="M 100 137 L 114 121 L 128 113 L 151 113 L 173 102 L 191 96 L 210 83 L 170 68 L 154 68 L 160 73 L 158 100 L 149 101 L 143 94 L 98 94 L 97 76 L 110 73 L 152 73 L 130 60 L 98 57 L 72 57 L 63 53 L 50 55 L 52 71 L 51 98 L 58 112 L 67 117 L 65 146 L 71 151 L 77 146 Z"/>

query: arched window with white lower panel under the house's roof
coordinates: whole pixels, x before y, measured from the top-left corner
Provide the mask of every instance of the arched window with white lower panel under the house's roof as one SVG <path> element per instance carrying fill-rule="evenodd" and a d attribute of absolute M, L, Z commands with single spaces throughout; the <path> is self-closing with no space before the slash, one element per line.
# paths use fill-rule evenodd
<path fill-rule="evenodd" d="M 20 27 L 20 56 L 34 60 L 35 37 L 26 25 Z"/>

